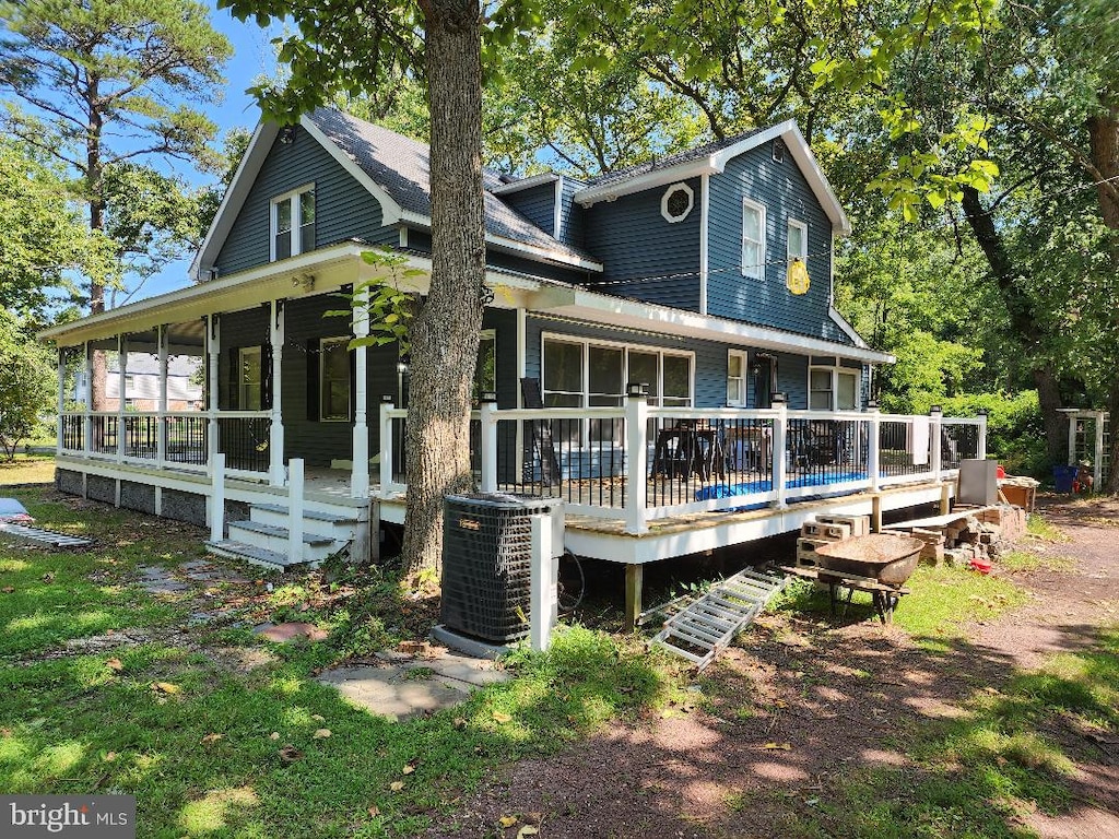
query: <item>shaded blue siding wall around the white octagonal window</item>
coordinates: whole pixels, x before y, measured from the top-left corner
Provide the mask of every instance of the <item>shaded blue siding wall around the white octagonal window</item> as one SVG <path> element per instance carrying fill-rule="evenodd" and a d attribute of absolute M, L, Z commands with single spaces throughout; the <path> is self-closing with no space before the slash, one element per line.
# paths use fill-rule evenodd
<path fill-rule="evenodd" d="M 664 187 L 586 210 L 586 249 L 602 262 L 606 283 L 592 289 L 699 311 L 699 179 L 686 182 L 695 206 L 676 224 L 660 215 Z"/>

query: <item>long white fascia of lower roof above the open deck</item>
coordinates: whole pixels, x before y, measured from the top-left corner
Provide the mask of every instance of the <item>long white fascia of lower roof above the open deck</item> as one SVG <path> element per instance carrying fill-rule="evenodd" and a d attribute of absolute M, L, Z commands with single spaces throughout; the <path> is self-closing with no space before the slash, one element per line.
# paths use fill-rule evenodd
<path fill-rule="evenodd" d="M 840 356 L 868 364 L 890 364 L 894 360 L 893 356 L 886 352 L 866 347 L 852 347 L 838 341 L 783 332 L 769 327 L 598 294 L 576 286 L 557 287 L 555 292 L 545 289 L 534 302 L 534 308 L 542 313 L 571 317 L 603 327 L 641 329 L 667 336 L 801 355 Z"/>

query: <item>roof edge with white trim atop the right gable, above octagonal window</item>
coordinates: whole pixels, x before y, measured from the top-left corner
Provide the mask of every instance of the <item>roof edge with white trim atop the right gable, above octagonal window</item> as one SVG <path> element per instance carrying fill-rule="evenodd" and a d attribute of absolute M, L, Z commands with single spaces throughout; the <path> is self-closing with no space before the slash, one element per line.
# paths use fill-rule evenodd
<path fill-rule="evenodd" d="M 847 214 L 844 213 L 831 185 L 816 162 L 805 135 L 792 120 L 600 176 L 591 180 L 585 189 L 575 192 L 575 200 L 584 207 L 590 207 L 599 201 L 613 200 L 623 195 L 640 192 L 684 178 L 718 175 L 730 160 L 778 138 L 784 141 L 790 157 L 800 168 L 812 194 L 830 219 L 831 228 L 841 235 L 849 234 L 850 221 L 847 219 Z"/>

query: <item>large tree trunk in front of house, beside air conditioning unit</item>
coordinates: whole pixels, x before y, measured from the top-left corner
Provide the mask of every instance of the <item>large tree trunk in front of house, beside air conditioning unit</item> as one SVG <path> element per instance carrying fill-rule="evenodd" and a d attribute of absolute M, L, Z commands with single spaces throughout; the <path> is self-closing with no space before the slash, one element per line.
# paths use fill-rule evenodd
<path fill-rule="evenodd" d="M 443 497 L 472 487 L 470 385 L 486 277 L 478 0 L 421 0 L 431 107 L 431 292 L 412 324 L 404 562 L 441 566 Z"/>

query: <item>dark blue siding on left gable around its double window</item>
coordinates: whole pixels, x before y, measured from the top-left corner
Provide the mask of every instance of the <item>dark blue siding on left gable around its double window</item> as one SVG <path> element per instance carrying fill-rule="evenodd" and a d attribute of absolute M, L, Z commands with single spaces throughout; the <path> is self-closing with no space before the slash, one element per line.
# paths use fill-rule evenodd
<path fill-rule="evenodd" d="M 216 261 L 220 275 L 269 262 L 271 201 L 276 196 L 314 183 L 316 247 L 359 238 L 395 245 L 395 228 L 382 226 L 380 205 L 318 141 L 303 130 L 289 144 L 279 138 L 256 176 Z"/>

